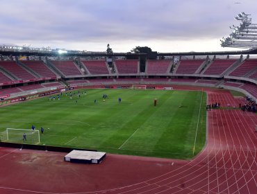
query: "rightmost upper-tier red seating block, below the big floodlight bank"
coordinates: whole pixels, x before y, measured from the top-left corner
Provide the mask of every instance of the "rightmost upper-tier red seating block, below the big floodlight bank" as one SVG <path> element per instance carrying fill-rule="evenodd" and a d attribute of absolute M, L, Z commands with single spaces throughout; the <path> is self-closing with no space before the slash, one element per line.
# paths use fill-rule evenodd
<path fill-rule="evenodd" d="M 248 73 L 254 71 L 257 67 L 257 60 L 244 60 L 239 67 L 229 73 L 233 77 L 245 77 Z"/>

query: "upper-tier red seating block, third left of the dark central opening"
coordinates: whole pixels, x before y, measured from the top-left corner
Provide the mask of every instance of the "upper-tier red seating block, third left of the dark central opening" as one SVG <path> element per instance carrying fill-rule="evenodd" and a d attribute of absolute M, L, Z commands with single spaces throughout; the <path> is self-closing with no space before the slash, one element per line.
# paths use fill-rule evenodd
<path fill-rule="evenodd" d="M 50 62 L 65 76 L 82 76 L 81 71 L 78 70 L 78 67 L 76 67 L 73 61 L 57 60 Z"/>

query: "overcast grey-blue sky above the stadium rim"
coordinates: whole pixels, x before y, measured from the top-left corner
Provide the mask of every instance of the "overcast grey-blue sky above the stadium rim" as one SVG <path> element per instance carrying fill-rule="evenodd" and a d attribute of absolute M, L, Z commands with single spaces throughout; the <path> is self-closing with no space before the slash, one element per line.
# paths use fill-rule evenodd
<path fill-rule="evenodd" d="M 257 24 L 257 0 L 0 0 L 0 45 L 128 52 L 228 51 L 239 12 Z"/>

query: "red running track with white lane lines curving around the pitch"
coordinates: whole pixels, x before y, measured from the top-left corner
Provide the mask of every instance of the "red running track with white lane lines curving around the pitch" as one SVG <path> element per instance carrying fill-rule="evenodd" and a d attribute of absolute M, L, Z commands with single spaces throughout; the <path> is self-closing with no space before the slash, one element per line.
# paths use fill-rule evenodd
<path fill-rule="evenodd" d="M 208 103 L 240 103 L 206 92 Z M 191 161 L 108 155 L 70 164 L 63 153 L 0 148 L 0 193 L 256 193 L 257 114 L 213 109 L 207 125 L 206 147 Z"/>

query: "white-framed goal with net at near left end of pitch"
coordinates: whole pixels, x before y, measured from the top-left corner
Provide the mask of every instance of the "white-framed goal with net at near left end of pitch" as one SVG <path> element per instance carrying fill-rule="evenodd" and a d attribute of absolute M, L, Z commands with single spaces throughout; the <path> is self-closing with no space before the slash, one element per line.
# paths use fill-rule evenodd
<path fill-rule="evenodd" d="M 2 141 L 8 141 L 12 143 L 29 143 L 29 144 L 40 143 L 39 130 L 6 128 L 5 133 L 6 133 L 6 138 L 2 139 Z M 26 134 L 26 140 L 24 139 L 24 134 Z"/>

